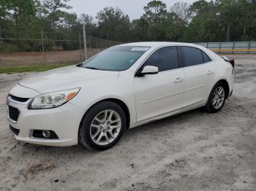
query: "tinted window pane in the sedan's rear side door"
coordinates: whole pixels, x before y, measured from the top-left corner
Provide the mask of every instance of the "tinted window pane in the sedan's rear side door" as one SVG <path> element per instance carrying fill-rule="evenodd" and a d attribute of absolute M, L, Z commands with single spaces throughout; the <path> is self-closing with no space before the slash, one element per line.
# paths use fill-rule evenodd
<path fill-rule="evenodd" d="M 184 66 L 195 66 L 203 63 L 201 50 L 195 47 L 181 47 Z"/>

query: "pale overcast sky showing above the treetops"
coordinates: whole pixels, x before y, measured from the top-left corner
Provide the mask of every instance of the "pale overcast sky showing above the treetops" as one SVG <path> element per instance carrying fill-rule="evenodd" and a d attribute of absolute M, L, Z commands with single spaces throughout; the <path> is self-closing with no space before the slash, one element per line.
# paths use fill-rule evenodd
<path fill-rule="evenodd" d="M 97 12 L 105 7 L 119 7 L 121 10 L 129 15 L 130 19 L 139 18 L 143 15 L 143 7 L 151 0 L 71 0 L 69 5 L 73 8 L 69 12 L 76 12 L 78 15 L 86 13 L 93 17 L 96 17 Z M 167 9 L 170 6 L 178 2 L 177 0 L 162 0 L 167 4 Z M 192 4 L 195 0 L 184 1 L 188 4 Z"/>

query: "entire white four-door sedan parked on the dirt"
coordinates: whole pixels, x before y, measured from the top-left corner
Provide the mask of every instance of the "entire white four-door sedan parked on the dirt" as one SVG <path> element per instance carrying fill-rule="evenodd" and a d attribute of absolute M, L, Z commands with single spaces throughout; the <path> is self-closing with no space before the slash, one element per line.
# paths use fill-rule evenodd
<path fill-rule="evenodd" d="M 7 97 L 7 119 L 20 141 L 109 149 L 125 129 L 203 106 L 219 112 L 233 68 L 195 44 L 122 44 L 22 79 Z"/>

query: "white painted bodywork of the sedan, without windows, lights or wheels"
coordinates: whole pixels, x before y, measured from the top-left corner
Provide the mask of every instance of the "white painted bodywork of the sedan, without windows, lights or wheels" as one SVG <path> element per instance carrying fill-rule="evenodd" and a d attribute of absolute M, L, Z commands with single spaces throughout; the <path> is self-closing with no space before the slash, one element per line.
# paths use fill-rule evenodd
<path fill-rule="evenodd" d="M 20 80 L 12 88 L 11 95 L 34 98 L 42 93 L 69 90 L 80 87 L 75 98 L 53 109 L 28 109 L 29 101 L 20 103 L 7 98 L 10 106 L 18 108 L 18 121 L 7 118 L 13 128 L 20 130 L 16 139 L 33 144 L 71 146 L 78 144 L 78 128 L 83 115 L 91 106 L 105 99 L 118 99 L 129 110 L 129 127 L 186 112 L 205 106 L 212 87 L 220 80 L 228 82 L 233 90 L 233 67 L 211 50 L 195 44 L 176 42 L 140 42 L 119 46 L 150 47 L 125 71 L 98 71 L 68 66 L 42 72 Z M 160 47 L 188 46 L 206 52 L 211 62 L 189 66 L 159 74 L 135 77 L 146 58 Z M 53 130 L 57 140 L 35 139 L 31 130 Z"/>

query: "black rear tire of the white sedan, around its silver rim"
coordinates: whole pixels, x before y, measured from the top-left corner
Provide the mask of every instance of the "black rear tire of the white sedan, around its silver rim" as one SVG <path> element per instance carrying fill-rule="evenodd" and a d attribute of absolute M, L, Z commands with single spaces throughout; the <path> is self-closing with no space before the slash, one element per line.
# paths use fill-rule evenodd
<path fill-rule="evenodd" d="M 221 95 L 219 94 L 219 97 L 217 97 L 216 93 L 219 90 L 222 90 L 222 94 Z M 225 90 L 225 85 L 223 85 L 222 82 L 218 82 L 216 85 L 214 85 L 214 87 L 211 90 L 211 93 L 208 97 L 207 104 L 205 106 L 206 110 L 210 113 L 219 112 L 225 104 L 225 101 L 227 98 L 226 95 L 227 95 L 227 92 Z M 220 102 L 218 102 L 218 100 Z M 217 102 L 214 102 L 214 101 L 217 101 L 219 103 L 219 105 L 217 104 Z"/>

